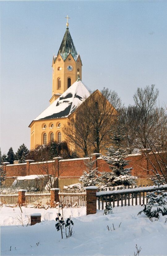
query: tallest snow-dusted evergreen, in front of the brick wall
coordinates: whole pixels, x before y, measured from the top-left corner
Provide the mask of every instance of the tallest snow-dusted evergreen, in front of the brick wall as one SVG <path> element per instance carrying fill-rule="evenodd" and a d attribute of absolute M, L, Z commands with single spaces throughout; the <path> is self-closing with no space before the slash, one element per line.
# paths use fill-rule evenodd
<path fill-rule="evenodd" d="M 120 115 L 113 123 L 110 132 L 112 146 L 107 148 L 106 156 L 102 156 L 102 158 L 109 164 L 109 169 L 112 172 L 102 172 L 99 183 L 102 187 L 134 185 L 136 183 L 135 177 L 131 176 L 132 168 L 125 168 L 128 165 L 125 158 L 129 149 L 126 146 L 126 129 Z"/>

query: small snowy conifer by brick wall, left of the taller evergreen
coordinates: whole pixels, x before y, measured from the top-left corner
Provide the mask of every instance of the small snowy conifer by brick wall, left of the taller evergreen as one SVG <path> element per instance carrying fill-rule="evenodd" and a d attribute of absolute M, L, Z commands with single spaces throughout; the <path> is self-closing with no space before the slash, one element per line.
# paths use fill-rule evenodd
<path fill-rule="evenodd" d="M 79 181 L 81 181 L 81 187 L 88 186 L 96 186 L 97 184 L 97 168 L 94 168 L 96 160 L 92 160 L 89 157 L 88 160 L 84 160 L 84 164 L 86 166 L 86 171 L 83 172 L 83 175 L 80 177 Z"/>

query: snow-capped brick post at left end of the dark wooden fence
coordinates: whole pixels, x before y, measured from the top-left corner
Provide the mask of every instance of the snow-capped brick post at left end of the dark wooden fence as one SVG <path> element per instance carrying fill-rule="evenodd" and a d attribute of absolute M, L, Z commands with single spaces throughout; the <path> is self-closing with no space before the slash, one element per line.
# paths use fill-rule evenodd
<path fill-rule="evenodd" d="M 89 186 L 86 187 L 86 215 L 88 214 L 95 214 L 97 210 L 96 206 L 96 186 Z"/>

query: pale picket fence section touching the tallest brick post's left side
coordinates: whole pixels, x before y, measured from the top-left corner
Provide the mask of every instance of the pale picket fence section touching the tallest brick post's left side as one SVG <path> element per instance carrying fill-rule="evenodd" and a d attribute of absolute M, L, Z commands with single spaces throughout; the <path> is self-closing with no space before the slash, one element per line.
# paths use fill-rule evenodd
<path fill-rule="evenodd" d="M 58 193 L 59 201 L 65 205 L 86 206 L 86 191 L 84 189 L 68 189 Z"/>

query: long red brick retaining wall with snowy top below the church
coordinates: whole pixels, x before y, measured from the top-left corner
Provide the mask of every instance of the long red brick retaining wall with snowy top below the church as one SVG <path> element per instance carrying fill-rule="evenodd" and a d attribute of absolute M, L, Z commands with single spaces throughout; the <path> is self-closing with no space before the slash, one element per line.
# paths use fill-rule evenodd
<path fill-rule="evenodd" d="M 152 174 L 151 164 L 143 155 L 132 155 L 127 157 L 129 162 L 128 167 L 133 167 L 132 175 L 145 179 L 148 174 Z M 95 166 L 96 167 L 96 166 Z M 97 158 L 97 167 L 99 171 L 110 171 L 109 165 L 101 159 Z M 58 172 L 60 178 L 79 178 L 85 170 L 85 164 L 83 159 L 68 159 L 68 160 L 55 160 L 48 163 L 27 163 L 27 164 L 15 164 L 6 165 L 6 176 L 25 176 L 33 174 L 46 174 L 45 170 L 49 170 L 49 173 L 55 171 Z M 149 170 L 149 171 L 147 171 Z"/>

